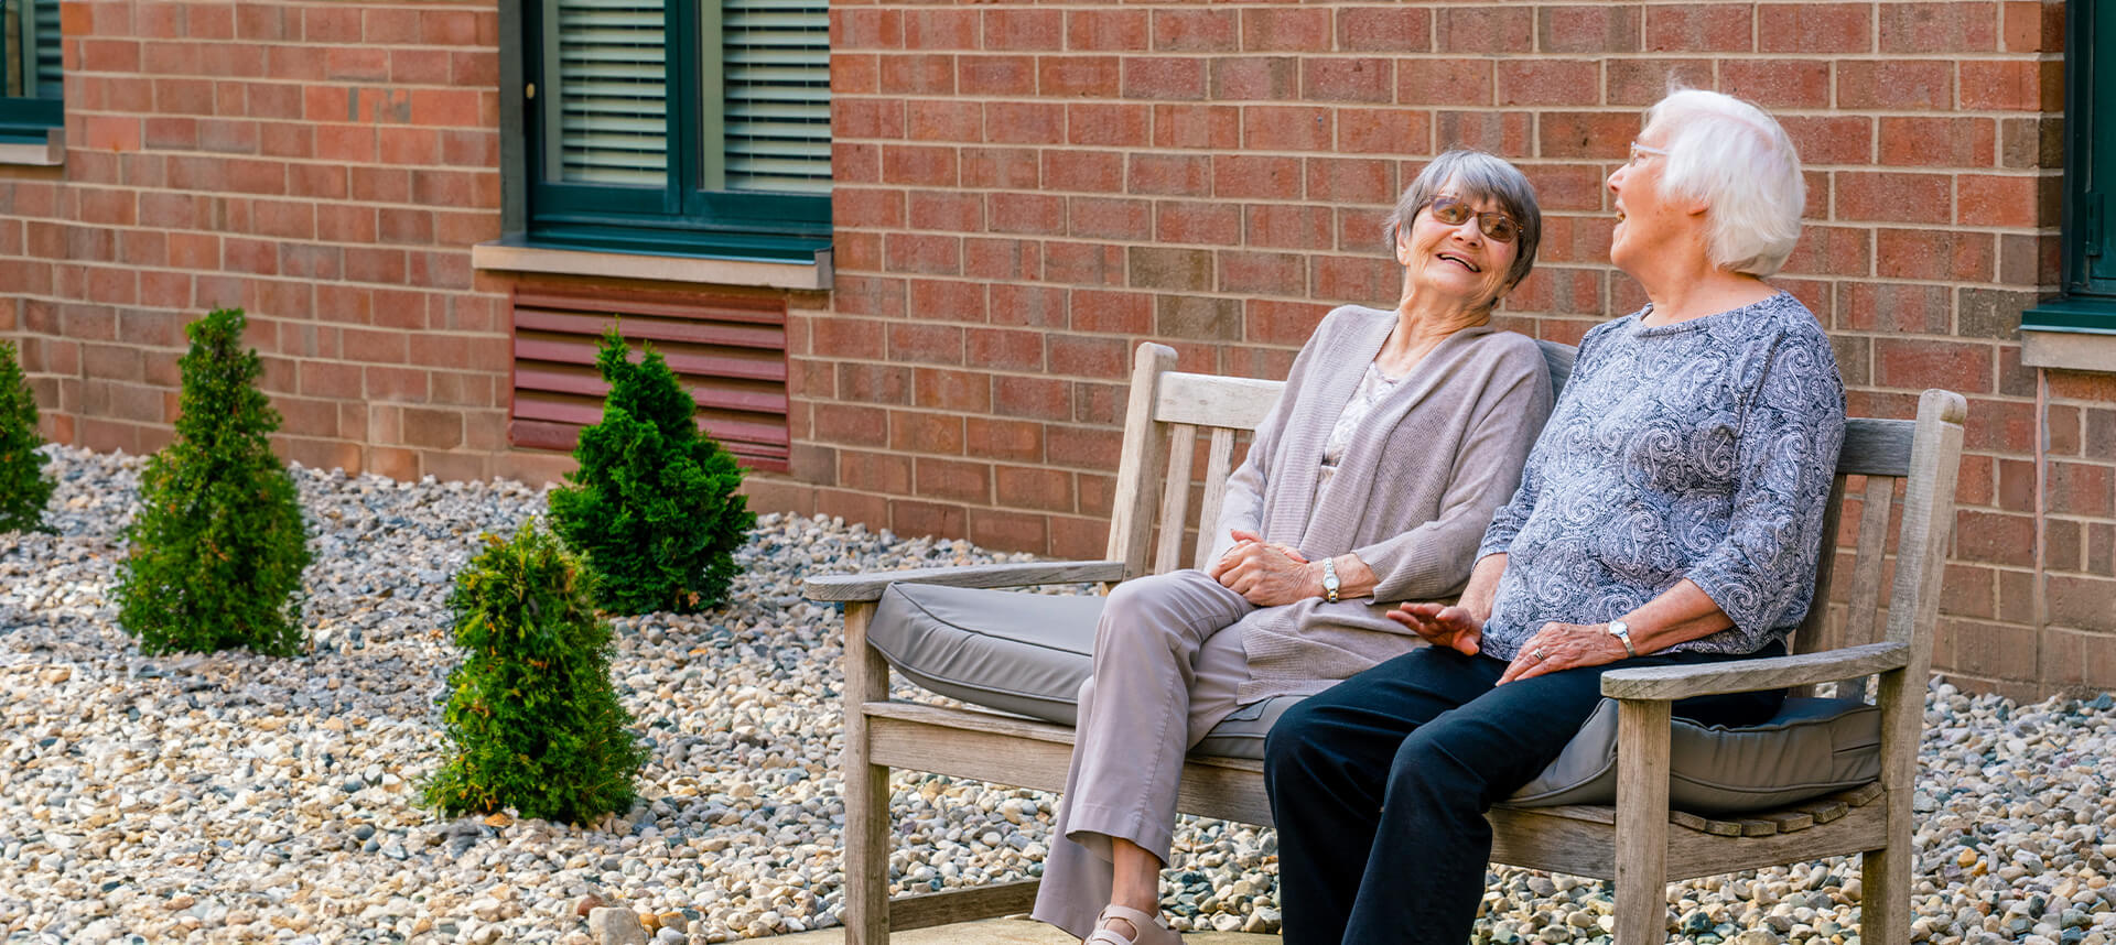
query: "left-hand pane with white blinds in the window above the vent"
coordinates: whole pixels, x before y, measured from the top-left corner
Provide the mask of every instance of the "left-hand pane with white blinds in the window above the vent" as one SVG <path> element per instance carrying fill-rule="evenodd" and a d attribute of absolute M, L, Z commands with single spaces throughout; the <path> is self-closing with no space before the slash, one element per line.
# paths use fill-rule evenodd
<path fill-rule="evenodd" d="M 557 87 L 544 167 L 565 184 L 669 184 L 669 30 L 660 0 L 548 0 Z"/>

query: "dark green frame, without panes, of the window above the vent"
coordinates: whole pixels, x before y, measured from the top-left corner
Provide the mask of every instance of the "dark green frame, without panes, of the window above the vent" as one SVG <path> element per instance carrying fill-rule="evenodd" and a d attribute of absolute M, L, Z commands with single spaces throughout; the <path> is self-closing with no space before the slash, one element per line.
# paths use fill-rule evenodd
<path fill-rule="evenodd" d="M 664 6 L 669 89 L 669 182 L 652 190 L 620 184 L 559 184 L 546 173 L 542 97 L 548 89 L 546 4 L 521 4 L 521 68 L 525 101 L 523 239 L 531 245 L 614 249 L 667 256 L 715 256 L 762 262 L 813 262 L 829 249 L 829 194 L 783 194 L 713 188 L 705 142 L 717 140 L 719 108 L 707 108 L 719 89 L 719 19 L 705 4 Z M 717 6 L 715 6 L 717 8 Z"/>

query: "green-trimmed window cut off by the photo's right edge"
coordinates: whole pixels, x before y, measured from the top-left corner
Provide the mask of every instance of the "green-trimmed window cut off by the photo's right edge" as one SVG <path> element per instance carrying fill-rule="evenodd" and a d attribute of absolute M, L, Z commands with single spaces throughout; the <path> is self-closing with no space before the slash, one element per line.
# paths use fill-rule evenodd
<path fill-rule="evenodd" d="M 2116 334 L 2116 4 L 2065 6 L 2063 283 L 2021 328 Z"/>

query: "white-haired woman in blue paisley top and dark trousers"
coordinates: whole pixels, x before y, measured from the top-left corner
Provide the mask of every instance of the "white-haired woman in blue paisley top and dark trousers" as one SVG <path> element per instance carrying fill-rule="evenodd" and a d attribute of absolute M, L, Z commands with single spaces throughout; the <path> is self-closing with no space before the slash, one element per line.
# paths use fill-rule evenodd
<path fill-rule="evenodd" d="M 1492 831 L 1602 698 L 1602 672 L 1782 655 L 1811 605 L 1843 383 L 1763 277 L 1799 239 L 1792 142 L 1676 91 L 1608 178 L 1610 258 L 1648 304 L 1581 340 L 1521 486 L 1456 605 L 1390 613 L 1433 647 L 1293 706 L 1265 742 L 1289 945 L 1469 941 Z M 1769 719 L 1782 691 L 1678 702 Z"/>

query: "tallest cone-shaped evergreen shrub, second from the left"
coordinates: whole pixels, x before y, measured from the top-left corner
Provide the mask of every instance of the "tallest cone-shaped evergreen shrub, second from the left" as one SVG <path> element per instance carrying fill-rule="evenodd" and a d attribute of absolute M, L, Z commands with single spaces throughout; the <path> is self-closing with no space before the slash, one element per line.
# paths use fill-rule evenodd
<path fill-rule="evenodd" d="M 294 480 L 267 440 L 279 412 L 256 389 L 241 309 L 184 328 L 176 440 L 140 476 L 140 516 L 125 531 L 118 624 L 148 653 L 250 647 L 294 655 L 307 533 Z"/>

